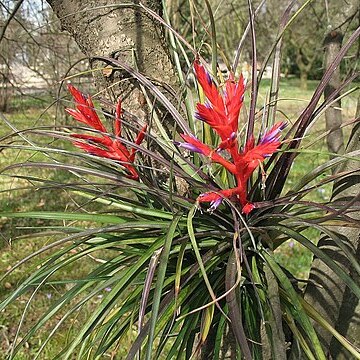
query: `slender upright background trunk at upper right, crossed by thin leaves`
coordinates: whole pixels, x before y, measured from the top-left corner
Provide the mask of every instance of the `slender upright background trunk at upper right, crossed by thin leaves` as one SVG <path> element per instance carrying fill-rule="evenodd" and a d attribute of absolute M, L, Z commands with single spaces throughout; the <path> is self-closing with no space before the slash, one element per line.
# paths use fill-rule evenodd
<path fill-rule="evenodd" d="M 325 47 L 325 69 L 334 61 L 340 51 L 343 35 L 340 31 L 331 31 L 324 41 Z M 340 67 L 338 67 L 324 91 L 325 100 L 338 89 L 341 84 Z M 341 101 L 334 102 L 325 112 L 326 130 L 330 131 L 327 136 L 327 146 L 330 153 L 342 154 L 344 152 L 344 136 L 341 128 Z"/>

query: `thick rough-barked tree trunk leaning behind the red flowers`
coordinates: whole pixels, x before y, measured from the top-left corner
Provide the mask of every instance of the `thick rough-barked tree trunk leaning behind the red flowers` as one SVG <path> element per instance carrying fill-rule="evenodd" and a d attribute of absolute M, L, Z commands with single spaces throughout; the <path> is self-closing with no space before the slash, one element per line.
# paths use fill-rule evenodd
<path fill-rule="evenodd" d="M 176 88 L 177 79 L 164 31 L 158 22 L 140 9 L 136 0 L 126 6 L 116 5 L 119 3 L 115 0 L 48 0 L 48 3 L 63 29 L 72 34 L 89 57 L 97 87 L 106 91 L 111 103 L 115 104 L 120 96 L 125 109 L 143 119 L 149 115 L 138 82 L 122 70 L 95 70 L 106 66 L 94 60 L 96 56 L 120 60 L 137 68 L 156 84 Z M 157 14 L 162 12 L 160 0 L 146 0 L 142 4 Z"/>

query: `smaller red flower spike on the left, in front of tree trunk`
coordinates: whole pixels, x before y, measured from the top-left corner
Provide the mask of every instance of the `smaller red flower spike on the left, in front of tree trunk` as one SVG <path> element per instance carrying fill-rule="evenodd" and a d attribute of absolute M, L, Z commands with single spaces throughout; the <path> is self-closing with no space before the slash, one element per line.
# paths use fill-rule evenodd
<path fill-rule="evenodd" d="M 99 136 L 72 134 L 72 137 L 83 140 L 74 141 L 73 144 L 78 148 L 85 150 L 89 154 L 118 161 L 127 170 L 128 178 L 138 180 L 139 175 L 132 165 L 135 159 L 136 149 L 131 148 L 129 151 L 119 139 L 121 136 L 121 101 L 119 100 L 116 106 L 114 124 L 115 137 L 110 137 L 107 135 L 108 132 L 94 109 L 91 97 L 84 95 L 72 85 L 69 85 L 68 88 L 76 103 L 76 109 L 67 108 L 65 111 L 74 119 L 99 132 Z M 146 125 L 142 128 L 135 139 L 136 145 L 140 145 L 143 141 L 145 131 Z"/>

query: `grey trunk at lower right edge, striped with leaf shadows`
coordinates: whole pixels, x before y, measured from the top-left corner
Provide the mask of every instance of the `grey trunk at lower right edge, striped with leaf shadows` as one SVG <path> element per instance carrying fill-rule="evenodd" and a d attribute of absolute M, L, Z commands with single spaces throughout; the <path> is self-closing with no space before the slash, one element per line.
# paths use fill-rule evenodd
<path fill-rule="evenodd" d="M 360 123 L 357 123 L 350 136 L 346 152 L 355 151 L 360 148 Z M 344 166 L 337 169 L 340 171 L 352 171 L 359 168 L 355 160 L 348 160 Z M 349 199 L 356 199 L 360 194 L 360 171 L 344 176 L 334 186 L 333 203 L 341 205 Z M 348 213 L 356 221 L 360 221 L 360 213 Z M 356 227 L 336 227 L 332 228 L 355 259 L 360 257 L 360 230 Z M 360 279 L 351 266 L 348 257 L 341 249 L 328 237 L 319 241 L 318 247 L 329 255 L 352 279 L 359 283 Z M 360 306 L 356 296 L 347 289 L 345 283 L 322 261 L 315 259 L 310 273 L 312 280 L 305 293 L 305 299 L 319 311 L 329 324 L 337 329 L 341 334 L 355 346 L 360 346 Z M 314 285 L 317 284 L 316 285 Z M 339 345 L 332 335 L 315 325 L 320 336 L 324 349 L 329 351 L 329 355 L 334 359 L 350 359 L 350 354 Z"/>

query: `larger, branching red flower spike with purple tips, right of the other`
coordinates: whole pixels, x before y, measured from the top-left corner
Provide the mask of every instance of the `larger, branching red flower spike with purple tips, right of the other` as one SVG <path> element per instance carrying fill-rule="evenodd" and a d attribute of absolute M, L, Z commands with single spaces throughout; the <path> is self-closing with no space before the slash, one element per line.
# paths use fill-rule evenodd
<path fill-rule="evenodd" d="M 255 169 L 281 145 L 280 132 L 286 123 L 275 124 L 255 145 L 255 139 L 250 137 L 244 149 L 240 150 L 237 142 L 238 118 L 244 98 L 244 81 L 242 76 L 236 82 L 230 75 L 225 82 L 223 94 L 219 91 L 210 75 L 204 67 L 196 61 L 194 64 L 195 75 L 204 90 L 208 102 L 197 104 L 197 119 L 205 121 L 220 136 L 221 143 L 216 149 L 211 149 L 200 140 L 190 135 L 181 135 L 184 143 L 179 146 L 190 151 L 200 153 L 208 157 L 212 162 L 222 165 L 232 173 L 236 179 L 236 187 L 232 189 L 211 191 L 201 194 L 198 202 L 210 202 L 210 209 L 215 210 L 224 198 L 237 199 L 244 214 L 250 213 L 254 209 L 254 204 L 247 200 L 247 183 Z M 231 155 L 231 161 L 223 158 L 219 152 L 226 150 Z"/>

